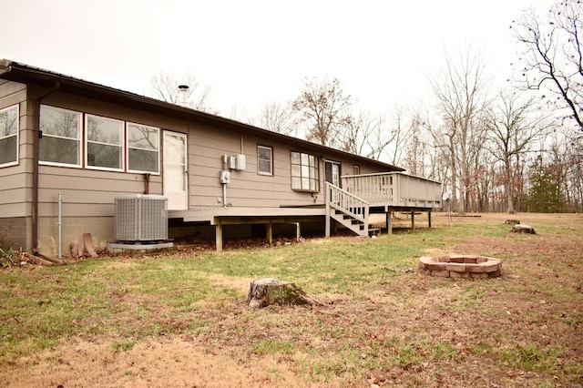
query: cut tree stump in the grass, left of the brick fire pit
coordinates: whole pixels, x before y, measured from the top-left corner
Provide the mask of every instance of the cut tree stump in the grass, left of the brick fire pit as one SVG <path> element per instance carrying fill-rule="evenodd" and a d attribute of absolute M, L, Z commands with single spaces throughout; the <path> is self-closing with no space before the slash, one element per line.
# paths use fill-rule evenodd
<path fill-rule="evenodd" d="M 251 283 L 247 304 L 254 309 L 278 305 L 309 304 L 322 305 L 322 302 L 309 297 L 304 291 L 290 281 L 278 281 L 271 278 L 259 279 Z"/>

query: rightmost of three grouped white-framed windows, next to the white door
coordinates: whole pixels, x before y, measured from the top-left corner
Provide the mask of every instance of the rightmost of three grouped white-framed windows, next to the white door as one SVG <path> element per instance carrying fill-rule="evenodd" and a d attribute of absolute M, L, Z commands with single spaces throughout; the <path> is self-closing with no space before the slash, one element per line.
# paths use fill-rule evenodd
<path fill-rule="evenodd" d="M 159 174 L 160 129 L 128 123 L 128 172 Z"/>

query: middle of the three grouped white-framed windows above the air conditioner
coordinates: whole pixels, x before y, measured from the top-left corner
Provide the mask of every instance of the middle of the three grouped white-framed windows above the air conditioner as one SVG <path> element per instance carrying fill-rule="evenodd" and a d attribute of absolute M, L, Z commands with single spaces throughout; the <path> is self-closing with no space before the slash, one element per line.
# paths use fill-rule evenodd
<path fill-rule="evenodd" d="M 85 116 L 87 168 L 124 169 L 124 122 L 94 115 Z"/>

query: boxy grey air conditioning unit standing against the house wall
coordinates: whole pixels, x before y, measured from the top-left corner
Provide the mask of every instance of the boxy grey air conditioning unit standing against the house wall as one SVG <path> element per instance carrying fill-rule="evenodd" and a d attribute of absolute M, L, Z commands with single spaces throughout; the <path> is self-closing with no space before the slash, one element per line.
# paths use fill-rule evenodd
<path fill-rule="evenodd" d="M 168 240 L 168 199 L 156 195 L 116 198 L 114 237 L 121 241 Z"/>

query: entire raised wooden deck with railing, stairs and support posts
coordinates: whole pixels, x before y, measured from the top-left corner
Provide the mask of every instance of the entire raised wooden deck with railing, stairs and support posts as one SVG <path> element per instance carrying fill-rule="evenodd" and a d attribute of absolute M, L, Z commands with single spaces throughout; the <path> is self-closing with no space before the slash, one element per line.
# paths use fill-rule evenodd
<path fill-rule="evenodd" d="M 441 184 L 400 172 L 353 175 L 342 177 L 343 188 L 329 182 L 324 185 L 324 203 L 311 206 L 281 208 L 251 207 L 194 207 L 187 210 L 170 210 L 169 219 L 215 226 L 217 250 L 222 250 L 224 225 L 265 224 L 267 240 L 271 244 L 272 225 L 296 225 L 300 237 L 300 223 L 325 221 L 325 236 L 330 236 L 332 220 L 353 230 L 357 235 L 370 234 L 370 214 L 386 214 L 386 228 L 391 233 L 392 211 L 410 211 L 412 228 L 414 212 L 426 211 L 431 228 L 431 211 L 441 208 Z"/>

